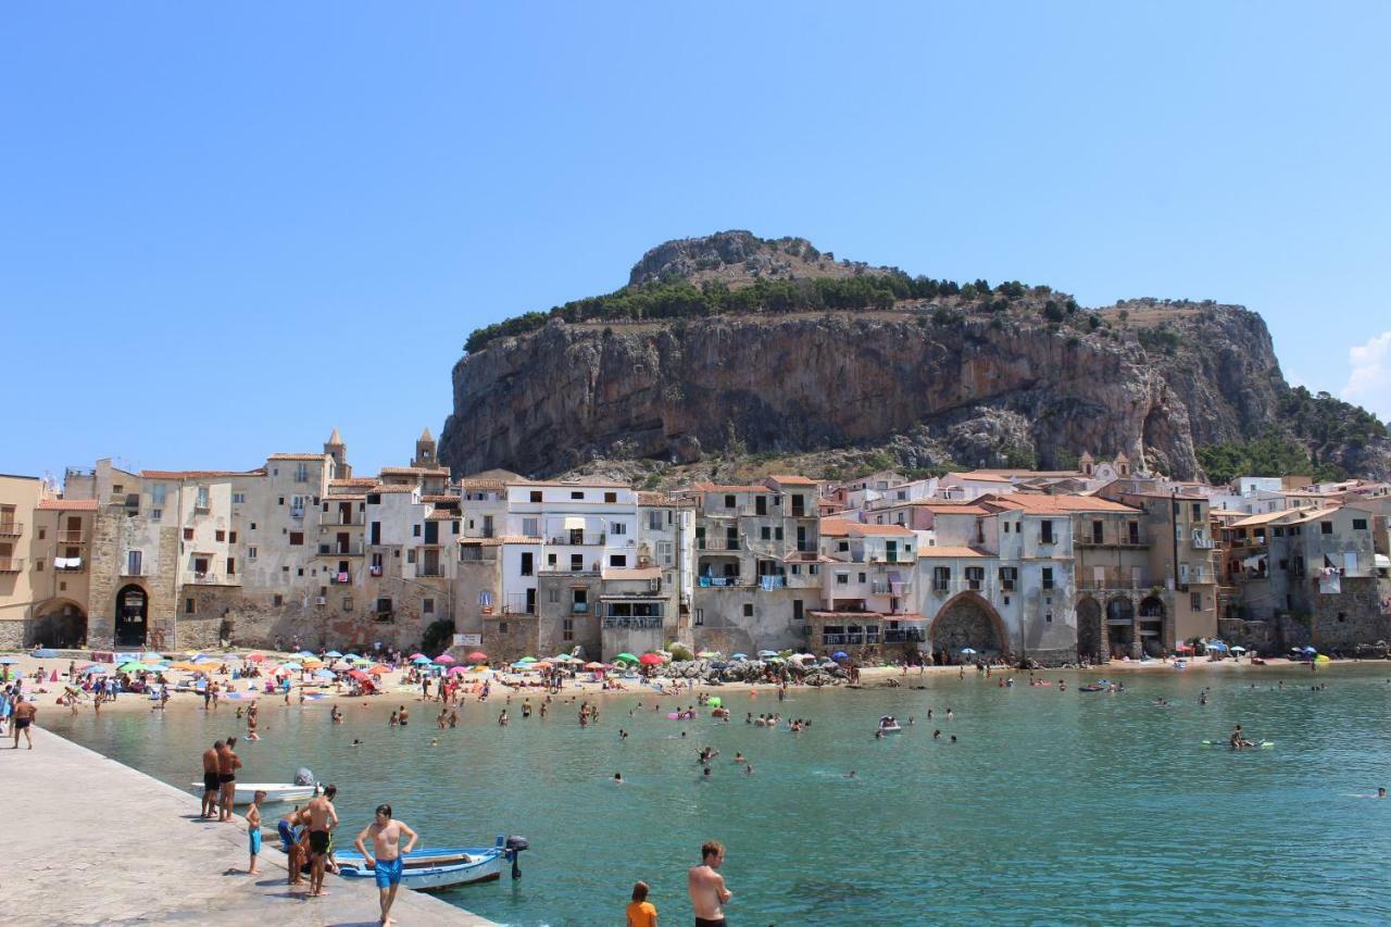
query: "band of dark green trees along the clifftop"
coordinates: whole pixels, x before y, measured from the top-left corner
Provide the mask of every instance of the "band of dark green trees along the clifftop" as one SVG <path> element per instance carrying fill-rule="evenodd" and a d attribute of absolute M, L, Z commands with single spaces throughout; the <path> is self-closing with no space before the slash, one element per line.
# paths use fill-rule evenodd
<path fill-rule="evenodd" d="M 662 280 L 638 287 L 623 287 L 604 296 L 576 299 L 549 312 L 529 312 L 506 319 L 469 335 L 463 349 L 481 351 L 490 341 L 526 334 L 545 326 L 551 319 L 565 322 L 643 322 L 647 319 L 690 319 L 722 315 L 757 315 L 786 312 L 815 312 L 822 309 L 867 310 L 892 309 L 900 299 L 936 299 L 960 296 L 982 303 L 993 310 L 1008 305 L 1028 292 L 1018 281 L 992 287 L 985 280 L 957 284 L 951 280 L 910 277 L 901 271 L 865 273 L 854 277 L 755 280 L 746 287 L 726 287 L 719 281 L 702 285 L 680 280 Z M 1067 302 L 1068 312 L 1077 303 Z M 1061 313 L 1061 309 L 1057 310 Z"/>

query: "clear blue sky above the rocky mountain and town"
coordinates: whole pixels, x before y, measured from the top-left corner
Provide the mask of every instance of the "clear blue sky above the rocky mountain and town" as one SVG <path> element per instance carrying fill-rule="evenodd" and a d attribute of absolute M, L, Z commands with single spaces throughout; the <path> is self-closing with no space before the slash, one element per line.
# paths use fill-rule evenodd
<path fill-rule="evenodd" d="M 14 4 L 0 472 L 241 469 L 334 426 L 359 470 L 402 464 L 472 328 L 723 228 L 1084 305 L 1239 302 L 1291 380 L 1356 377 L 1391 418 L 1388 26 L 1384 3 Z"/>

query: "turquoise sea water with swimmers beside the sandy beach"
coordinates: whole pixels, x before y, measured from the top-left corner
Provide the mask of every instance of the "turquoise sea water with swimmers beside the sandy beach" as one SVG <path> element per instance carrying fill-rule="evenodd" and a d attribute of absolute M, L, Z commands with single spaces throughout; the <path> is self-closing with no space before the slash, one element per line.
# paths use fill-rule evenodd
<path fill-rule="evenodd" d="M 651 696 L 613 696 L 586 729 L 568 703 L 523 721 L 519 696 L 508 728 L 495 696 L 442 732 L 415 702 L 412 727 L 387 727 L 409 696 L 345 702 L 337 727 L 327 702 L 263 703 L 264 739 L 243 742 L 241 778 L 288 781 L 305 764 L 337 782 L 344 842 L 378 802 L 427 845 L 524 834 L 533 849 L 519 882 L 441 895 L 505 924 L 622 924 L 638 878 L 662 923 L 689 923 L 684 874 L 705 839 L 727 848 L 732 924 L 1385 923 L 1391 799 L 1358 795 L 1391 786 L 1388 676 L 1370 664 L 1127 674 L 1128 692 L 1107 696 L 1078 692 L 1092 676 L 1071 672 L 1046 674 L 1054 688 L 1020 678 L 1013 689 L 910 675 L 926 689 L 794 690 L 783 703 L 730 686 L 732 724 L 704 710 L 666 720 L 690 699 L 652 713 Z M 1312 692 L 1314 682 L 1328 688 Z M 1200 706 L 1205 686 L 1212 702 Z M 1156 707 L 1160 696 L 1174 707 Z M 750 727 L 750 710 L 812 727 Z M 46 727 L 178 786 L 200 778 L 204 746 L 239 727 L 228 707 L 46 714 Z M 881 714 L 917 724 L 876 742 Z M 1235 724 L 1276 747 L 1200 746 Z M 702 745 L 721 750 L 712 781 L 698 781 Z M 736 750 L 753 775 L 732 763 Z M 629 784 L 609 782 L 615 771 Z M 170 823 L 179 827 L 191 824 Z"/>

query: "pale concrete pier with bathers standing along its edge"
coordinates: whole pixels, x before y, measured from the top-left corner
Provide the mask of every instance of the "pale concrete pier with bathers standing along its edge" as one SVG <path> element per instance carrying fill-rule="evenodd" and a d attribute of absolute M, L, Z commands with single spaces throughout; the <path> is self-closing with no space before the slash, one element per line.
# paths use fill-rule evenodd
<path fill-rule="evenodd" d="M 47 731 L 33 750 L 0 742 L 0 824 L 22 839 L 6 866 L 0 921 L 43 924 L 376 924 L 377 889 L 330 876 L 327 898 L 285 885 L 266 816 L 262 876 L 246 876 L 246 825 L 199 820 L 198 798 Z M 195 760 L 198 757 L 193 757 Z M 192 781 L 192 778 L 189 779 Z M 360 830 L 344 823 L 345 835 Z M 351 837 L 348 838 L 351 839 Z M 491 921 L 412 891 L 391 909 L 401 927 Z"/>

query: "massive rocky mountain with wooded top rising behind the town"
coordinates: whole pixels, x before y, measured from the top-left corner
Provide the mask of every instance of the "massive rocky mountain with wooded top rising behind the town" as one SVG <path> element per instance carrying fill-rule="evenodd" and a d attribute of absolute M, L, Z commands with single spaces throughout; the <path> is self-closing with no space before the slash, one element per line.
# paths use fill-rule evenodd
<path fill-rule="evenodd" d="M 1046 287 L 908 278 L 748 232 L 654 248 L 623 290 L 470 345 L 440 451 L 456 475 L 882 445 L 910 468 L 1124 451 L 1188 479 L 1200 445 L 1294 434 L 1270 334 L 1241 306 L 1086 310 Z M 1391 470 L 1384 438 L 1321 451 Z"/>

